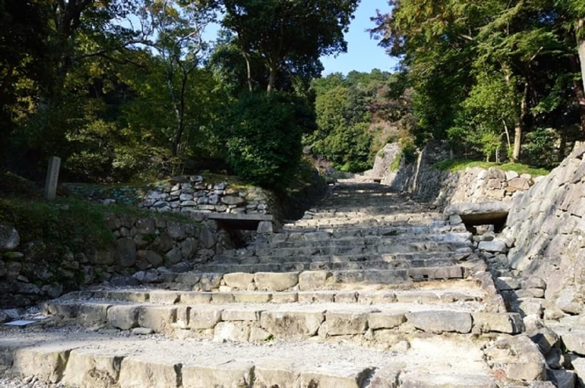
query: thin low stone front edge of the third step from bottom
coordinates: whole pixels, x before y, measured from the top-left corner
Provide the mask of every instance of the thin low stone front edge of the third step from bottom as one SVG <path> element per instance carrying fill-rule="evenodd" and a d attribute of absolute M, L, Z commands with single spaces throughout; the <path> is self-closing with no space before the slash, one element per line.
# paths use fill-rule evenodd
<path fill-rule="evenodd" d="M 60 297 L 60 300 L 100 299 L 153 304 L 226 304 L 226 303 L 453 303 L 456 301 L 481 302 L 483 298 L 459 292 L 433 293 L 425 290 L 400 291 L 361 291 L 361 290 L 322 290 L 322 291 L 171 291 L 171 290 L 97 290 L 73 291 Z"/>

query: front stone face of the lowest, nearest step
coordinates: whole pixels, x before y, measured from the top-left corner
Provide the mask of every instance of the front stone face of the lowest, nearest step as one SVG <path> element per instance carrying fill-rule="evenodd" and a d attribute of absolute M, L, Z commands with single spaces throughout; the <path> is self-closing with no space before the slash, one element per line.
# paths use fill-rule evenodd
<path fill-rule="evenodd" d="M 144 355 L 128 355 L 122 350 L 100 352 L 91 344 L 78 346 L 39 345 L 11 348 L 9 368 L 23 377 L 66 386 L 135 387 L 426 387 L 436 379 L 449 386 L 491 388 L 494 381 L 483 375 L 426 375 L 401 373 L 392 367 L 378 368 L 345 362 L 343 368 L 314 366 L 291 368 L 279 360 L 234 360 L 215 362 L 164 362 Z M 170 350 L 170 349 L 168 349 Z M 94 381 L 95 379 L 95 381 Z M 430 384 L 429 384 L 430 383 Z M 429 384 L 429 385 L 427 385 Z"/>

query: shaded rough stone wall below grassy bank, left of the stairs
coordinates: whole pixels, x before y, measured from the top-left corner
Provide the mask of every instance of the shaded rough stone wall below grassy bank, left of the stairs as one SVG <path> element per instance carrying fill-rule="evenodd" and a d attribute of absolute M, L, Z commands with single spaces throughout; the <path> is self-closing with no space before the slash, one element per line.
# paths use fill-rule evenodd
<path fill-rule="evenodd" d="M 20 242 L 18 231 L 0 225 L 0 307 L 25 307 L 104 281 L 136 285 L 166 270 L 190 270 L 233 248 L 215 221 L 189 222 L 106 215 L 112 242 L 82 252 L 66 248 L 60 262 L 46 259 L 43 242 Z"/>

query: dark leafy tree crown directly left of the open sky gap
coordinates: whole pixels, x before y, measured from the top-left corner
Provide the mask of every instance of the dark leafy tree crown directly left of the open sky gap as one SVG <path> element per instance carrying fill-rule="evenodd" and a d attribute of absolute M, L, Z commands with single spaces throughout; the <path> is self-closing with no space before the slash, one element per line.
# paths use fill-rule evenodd
<path fill-rule="evenodd" d="M 295 78 L 311 80 L 321 74 L 321 56 L 347 50 L 347 31 L 359 0 L 207 0 L 221 8 L 222 26 L 232 33 L 250 66 L 249 88 L 291 90 Z M 262 78 L 256 63 L 264 68 Z M 254 68 L 252 69 L 252 65 Z M 247 73 L 247 72 L 246 72 Z M 277 80 L 277 78 L 279 78 Z"/>

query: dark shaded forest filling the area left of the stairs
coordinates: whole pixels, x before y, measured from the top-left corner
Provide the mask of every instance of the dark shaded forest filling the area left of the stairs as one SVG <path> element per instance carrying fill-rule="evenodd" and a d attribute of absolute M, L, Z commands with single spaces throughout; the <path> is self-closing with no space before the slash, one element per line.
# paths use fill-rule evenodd
<path fill-rule="evenodd" d="M 227 169 L 286 186 L 316 128 L 319 58 L 346 51 L 358 3 L 2 0 L 0 163 L 39 178 L 54 154 L 81 180 Z"/>

